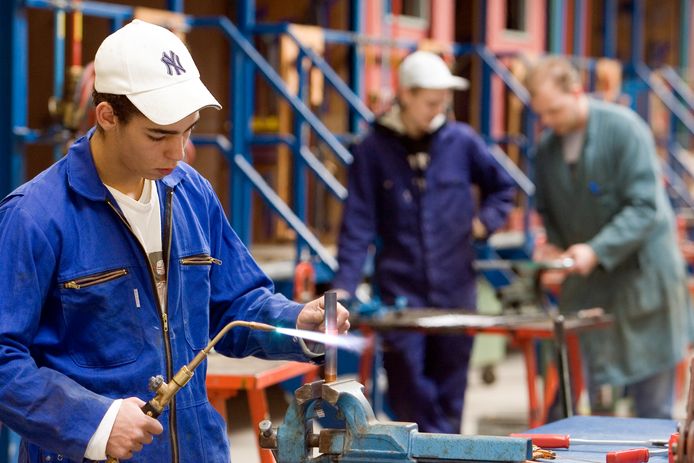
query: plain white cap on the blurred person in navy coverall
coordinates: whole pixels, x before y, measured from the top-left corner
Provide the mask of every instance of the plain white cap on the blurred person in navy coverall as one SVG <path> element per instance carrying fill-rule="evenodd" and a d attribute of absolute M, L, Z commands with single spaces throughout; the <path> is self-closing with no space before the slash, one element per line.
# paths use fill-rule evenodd
<path fill-rule="evenodd" d="M 428 51 L 416 51 L 400 63 L 400 87 L 465 90 L 467 79 L 454 76 L 440 56 Z"/>

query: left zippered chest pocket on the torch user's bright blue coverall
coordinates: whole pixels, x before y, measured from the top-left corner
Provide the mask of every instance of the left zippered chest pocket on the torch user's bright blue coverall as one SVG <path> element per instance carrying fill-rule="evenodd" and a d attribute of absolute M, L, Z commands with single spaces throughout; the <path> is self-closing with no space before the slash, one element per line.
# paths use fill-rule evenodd
<path fill-rule="evenodd" d="M 141 303 L 127 268 L 91 273 L 61 283 L 65 342 L 82 367 L 134 362 L 144 347 Z"/>

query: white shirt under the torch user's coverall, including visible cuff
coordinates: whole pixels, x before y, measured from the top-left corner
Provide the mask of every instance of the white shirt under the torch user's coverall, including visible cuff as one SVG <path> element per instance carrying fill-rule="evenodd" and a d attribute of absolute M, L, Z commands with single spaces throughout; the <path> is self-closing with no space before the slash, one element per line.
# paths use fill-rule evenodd
<path fill-rule="evenodd" d="M 134 200 L 113 187 L 105 186 L 116 199 L 130 228 L 147 253 L 147 259 L 157 284 L 157 296 L 162 309 L 166 310 L 166 268 L 162 253 L 161 207 L 159 206 L 159 193 L 156 184 L 154 180 L 145 180 L 139 200 Z M 89 440 L 84 458 L 88 460 L 106 459 L 106 444 L 122 402 L 122 399 L 114 401 L 106 411 L 99 427 Z"/>

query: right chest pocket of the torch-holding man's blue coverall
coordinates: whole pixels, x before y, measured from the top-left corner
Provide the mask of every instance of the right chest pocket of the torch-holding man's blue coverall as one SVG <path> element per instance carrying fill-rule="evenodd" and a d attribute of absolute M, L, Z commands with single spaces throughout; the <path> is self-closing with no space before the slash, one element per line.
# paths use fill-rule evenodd
<path fill-rule="evenodd" d="M 210 339 L 210 272 L 222 261 L 195 254 L 180 258 L 179 264 L 186 340 L 192 349 L 201 350 Z"/>

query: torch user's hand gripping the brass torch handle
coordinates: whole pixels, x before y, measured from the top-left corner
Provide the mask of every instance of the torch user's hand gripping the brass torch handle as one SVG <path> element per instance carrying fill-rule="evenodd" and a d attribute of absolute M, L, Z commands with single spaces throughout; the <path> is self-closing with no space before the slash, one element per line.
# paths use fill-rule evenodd
<path fill-rule="evenodd" d="M 144 405 L 137 397 L 123 400 L 106 443 L 106 455 L 121 460 L 132 458 L 143 445 L 152 443 L 154 434 L 164 431 L 159 421 L 142 413 Z"/>

